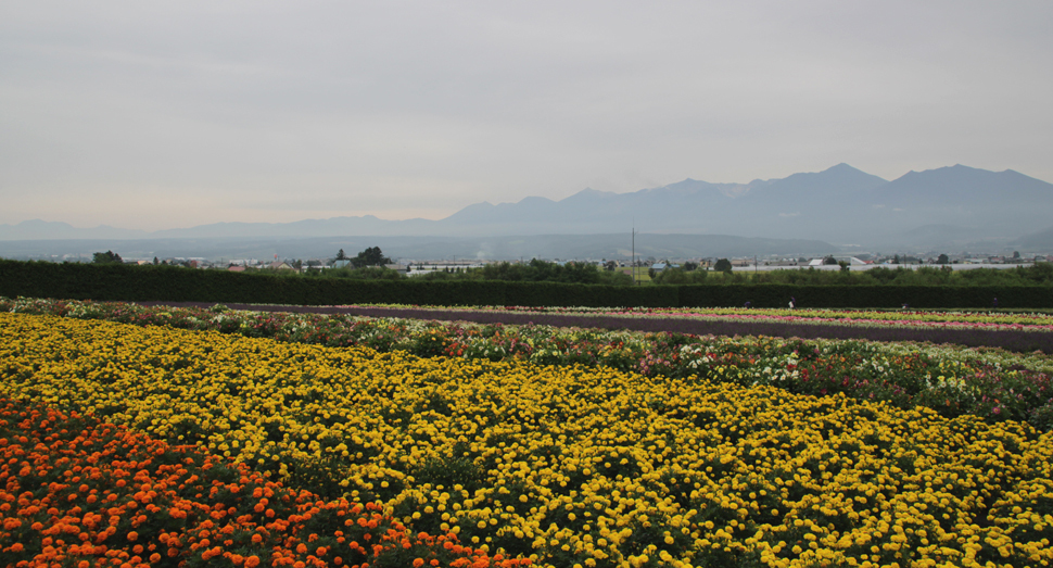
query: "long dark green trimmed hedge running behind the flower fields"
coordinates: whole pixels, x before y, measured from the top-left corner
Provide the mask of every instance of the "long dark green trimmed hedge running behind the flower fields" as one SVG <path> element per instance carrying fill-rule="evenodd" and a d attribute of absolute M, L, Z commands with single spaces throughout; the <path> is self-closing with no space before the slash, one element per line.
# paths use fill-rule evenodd
<path fill-rule="evenodd" d="M 693 285 L 619 287 L 557 282 L 301 278 L 174 266 L 0 261 L 0 295 L 68 300 L 251 304 L 525 306 L 1053 307 L 1048 286 Z"/>

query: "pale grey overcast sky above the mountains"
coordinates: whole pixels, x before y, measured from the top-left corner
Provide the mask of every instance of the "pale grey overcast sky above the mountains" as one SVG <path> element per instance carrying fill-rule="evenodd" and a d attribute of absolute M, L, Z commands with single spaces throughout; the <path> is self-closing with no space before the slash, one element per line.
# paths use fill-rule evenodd
<path fill-rule="evenodd" d="M 0 223 L 749 181 L 1053 181 L 1053 2 L 0 0 Z"/>

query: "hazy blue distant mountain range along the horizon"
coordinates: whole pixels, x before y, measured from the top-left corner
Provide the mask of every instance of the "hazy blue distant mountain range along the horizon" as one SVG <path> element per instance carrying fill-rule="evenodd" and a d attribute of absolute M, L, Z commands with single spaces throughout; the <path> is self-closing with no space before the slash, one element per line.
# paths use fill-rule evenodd
<path fill-rule="evenodd" d="M 953 245 L 1008 242 L 1048 229 L 1051 218 L 1053 185 L 1012 169 L 955 165 L 910 172 L 889 181 L 842 163 L 823 172 L 746 184 L 688 178 L 627 193 L 584 189 L 559 201 L 526 197 L 516 203 L 482 202 L 440 220 L 365 215 L 218 223 L 153 232 L 105 226 L 76 229 L 34 220 L 0 225 L 0 240 L 604 235 L 635 226 L 654 233 L 881 244 L 929 239 Z"/>

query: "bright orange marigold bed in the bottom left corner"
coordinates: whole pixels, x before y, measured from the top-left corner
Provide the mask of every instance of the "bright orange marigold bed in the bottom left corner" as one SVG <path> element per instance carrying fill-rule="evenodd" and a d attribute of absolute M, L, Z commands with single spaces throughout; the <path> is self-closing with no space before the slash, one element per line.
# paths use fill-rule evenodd
<path fill-rule="evenodd" d="M 380 505 L 322 501 L 194 446 L 0 401 L 8 567 L 517 567 L 413 533 Z"/>

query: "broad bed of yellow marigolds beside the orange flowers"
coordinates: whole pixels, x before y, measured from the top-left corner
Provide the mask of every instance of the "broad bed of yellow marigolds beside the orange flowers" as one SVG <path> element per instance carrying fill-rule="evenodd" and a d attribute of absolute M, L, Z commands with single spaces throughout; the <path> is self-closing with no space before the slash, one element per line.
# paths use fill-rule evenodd
<path fill-rule="evenodd" d="M 0 395 L 543 566 L 1046 566 L 1053 439 L 843 396 L 0 314 Z"/>

